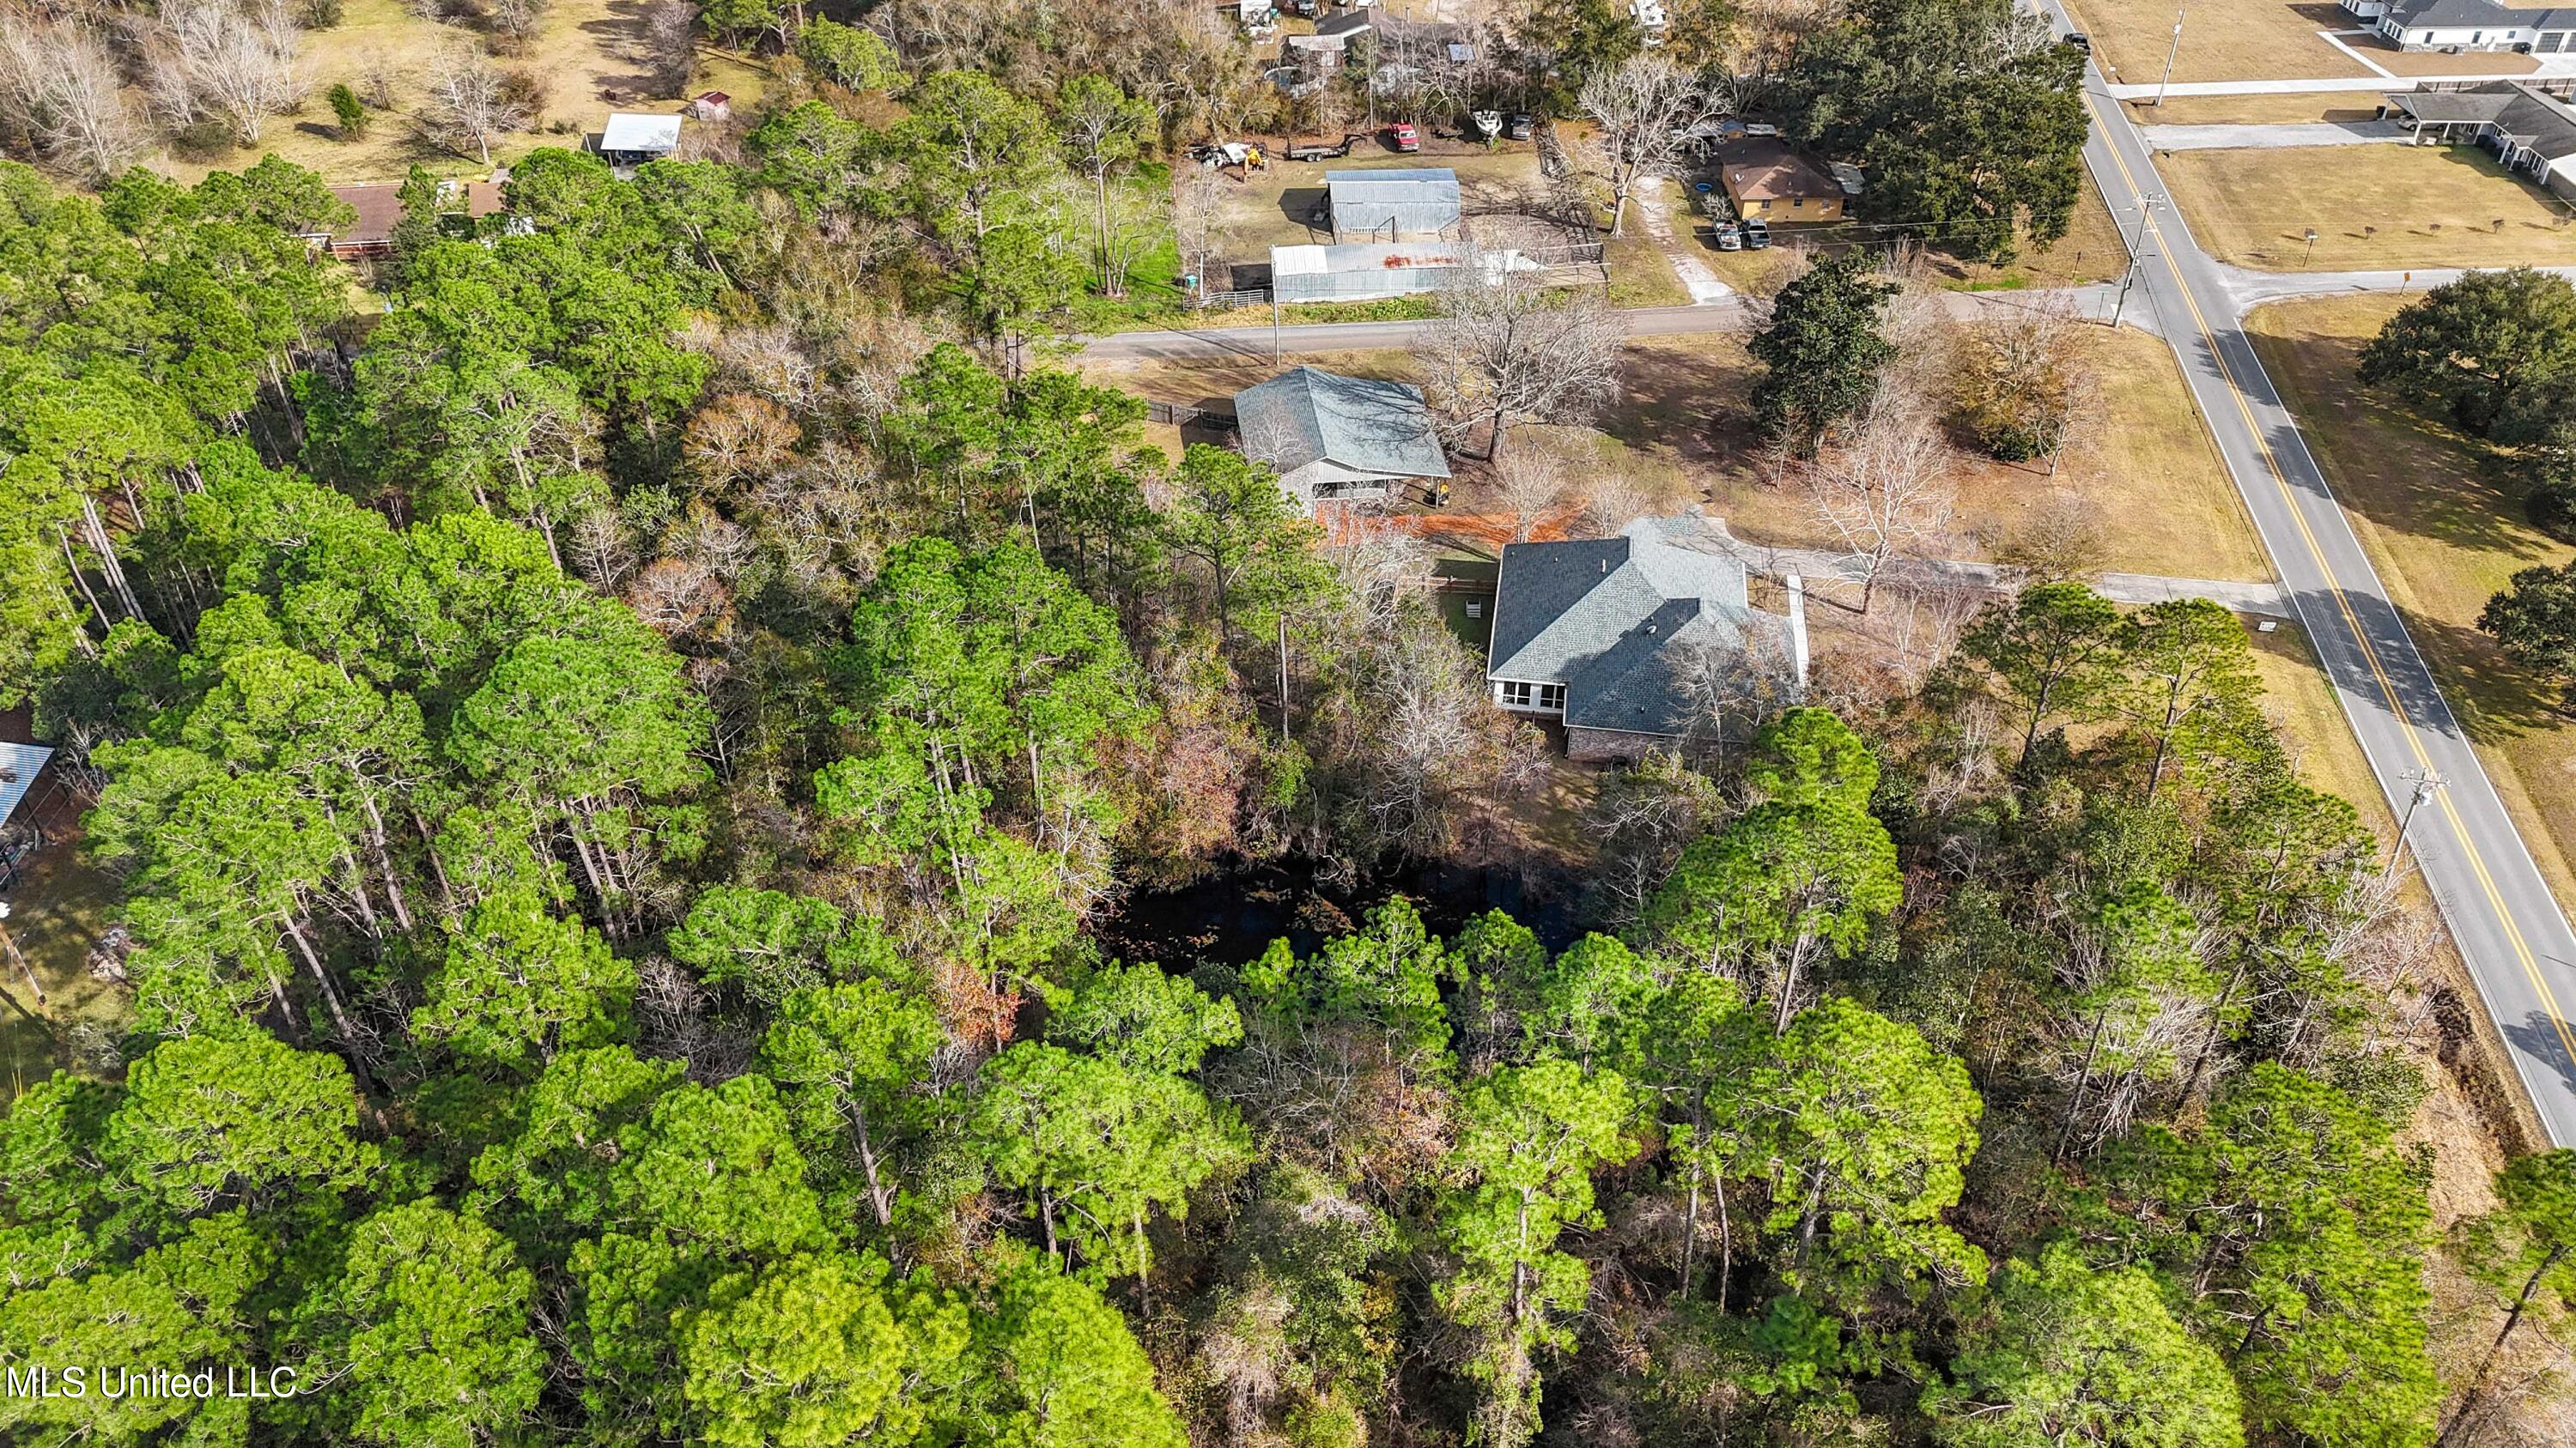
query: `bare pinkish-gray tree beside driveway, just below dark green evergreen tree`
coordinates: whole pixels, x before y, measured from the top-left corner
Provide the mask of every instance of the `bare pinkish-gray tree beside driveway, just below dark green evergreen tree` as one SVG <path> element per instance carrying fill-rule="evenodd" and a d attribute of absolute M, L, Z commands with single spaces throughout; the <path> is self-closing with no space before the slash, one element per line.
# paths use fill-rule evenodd
<path fill-rule="evenodd" d="M 1801 464 L 1816 518 L 1860 569 L 1862 613 L 1906 544 L 1945 533 L 1955 502 L 1950 461 L 1932 410 L 1886 379 L 1844 446 Z"/>

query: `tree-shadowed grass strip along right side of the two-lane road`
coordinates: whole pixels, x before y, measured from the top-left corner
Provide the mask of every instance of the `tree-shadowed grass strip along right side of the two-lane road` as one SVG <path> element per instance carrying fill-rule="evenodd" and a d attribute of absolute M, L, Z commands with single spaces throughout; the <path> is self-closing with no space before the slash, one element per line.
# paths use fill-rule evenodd
<path fill-rule="evenodd" d="M 2566 861 L 2576 848 L 2576 727 L 2558 714 L 2558 691 L 2478 631 L 2478 611 L 2514 569 L 2561 564 L 2568 549 L 2524 523 L 2522 490 L 2481 469 L 2468 443 L 2352 379 L 2354 353 L 2398 307 L 2385 294 L 2285 301 L 2254 312 L 2246 332 L 2540 871 L 2576 907 Z"/>

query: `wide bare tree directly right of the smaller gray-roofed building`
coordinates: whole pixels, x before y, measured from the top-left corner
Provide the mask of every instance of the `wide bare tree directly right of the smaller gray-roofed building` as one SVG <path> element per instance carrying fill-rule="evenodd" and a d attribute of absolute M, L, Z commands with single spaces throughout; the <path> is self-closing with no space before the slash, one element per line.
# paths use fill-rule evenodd
<path fill-rule="evenodd" d="M 1458 271 L 1414 348 L 1453 438 L 1484 423 L 1484 456 L 1502 459 L 1512 425 L 1584 425 L 1618 397 L 1623 330 L 1607 301 L 1548 294 L 1528 271 Z"/>

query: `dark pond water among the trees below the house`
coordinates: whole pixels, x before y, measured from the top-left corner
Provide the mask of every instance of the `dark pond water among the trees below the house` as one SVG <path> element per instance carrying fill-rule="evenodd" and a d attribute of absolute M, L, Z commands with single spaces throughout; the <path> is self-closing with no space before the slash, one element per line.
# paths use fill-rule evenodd
<path fill-rule="evenodd" d="M 1154 961 L 1167 969 L 1190 969 L 1198 961 L 1239 966 L 1280 935 L 1301 956 L 1316 951 L 1396 894 L 1414 902 L 1432 935 L 1455 935 L 1486 910 L 1512 915 L 1535 930 L 1548 951 L 1571 946 L 1579 933 L 1574 891 L 1530 889 L 1517 871 L 1414 866 L 1342 886 L 1327 881 L 1316 861 L 1288 858 L 1242 863 L 1180 889 L 1133 891 L 1118 910 L 1092 922 L 1092 935 L 1103 951 L 1123 961 Z"/>

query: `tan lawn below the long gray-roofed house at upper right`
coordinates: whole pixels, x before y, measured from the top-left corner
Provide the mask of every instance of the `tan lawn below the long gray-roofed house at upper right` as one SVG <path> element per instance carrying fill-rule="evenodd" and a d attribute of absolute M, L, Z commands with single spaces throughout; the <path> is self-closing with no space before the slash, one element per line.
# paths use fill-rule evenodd
<path fill-rule="evenodd" d="M 2568 209 L 2476 147 L 2166 152 L 2156 170 L 2200 245 L 2239 265 L 2385 271 L 2576 260 Z M 2313 258 L 2308 227 L 2318 232 Z"/>

